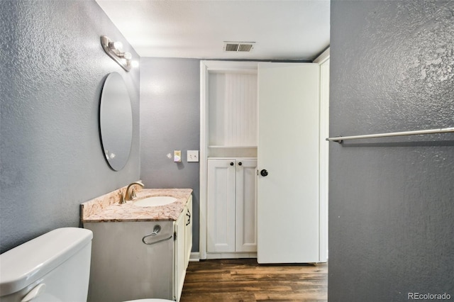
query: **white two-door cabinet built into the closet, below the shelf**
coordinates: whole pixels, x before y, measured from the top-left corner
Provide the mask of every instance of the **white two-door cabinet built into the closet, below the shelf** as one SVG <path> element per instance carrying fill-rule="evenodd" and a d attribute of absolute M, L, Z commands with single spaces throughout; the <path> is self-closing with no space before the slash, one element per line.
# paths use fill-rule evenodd
<path fill-rule="evenodd" d="M 207 252 L 257 252 L 257 160 L 209 159 L 207 201 Z"/>

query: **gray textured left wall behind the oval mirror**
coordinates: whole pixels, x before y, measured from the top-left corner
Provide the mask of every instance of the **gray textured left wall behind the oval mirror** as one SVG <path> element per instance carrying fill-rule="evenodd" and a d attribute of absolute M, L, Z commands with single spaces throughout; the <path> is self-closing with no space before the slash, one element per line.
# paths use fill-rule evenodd
<path fill-rule="evenodd" d="M 0 252 L 48 230 L 79 225 L 79 204 L 140 177 L 139 72 L 126 73 L 100 36 L 126 43 L 92 0 L 1 1 Z M 133 108 L 131 157 L 104 160 L 99 99 L 119 72 Z"/>

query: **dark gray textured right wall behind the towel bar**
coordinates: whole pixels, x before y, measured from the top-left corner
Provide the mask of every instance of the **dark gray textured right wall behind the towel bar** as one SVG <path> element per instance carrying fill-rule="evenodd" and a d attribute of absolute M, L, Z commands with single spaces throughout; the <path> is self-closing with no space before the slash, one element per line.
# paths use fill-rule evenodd
<path fill-rule="evenodd" d="M 330 135 L 454 126 L 454 1 L 331 3 Z M 454 297 L 454 135 L 331 142 L 330 301 Z"/>

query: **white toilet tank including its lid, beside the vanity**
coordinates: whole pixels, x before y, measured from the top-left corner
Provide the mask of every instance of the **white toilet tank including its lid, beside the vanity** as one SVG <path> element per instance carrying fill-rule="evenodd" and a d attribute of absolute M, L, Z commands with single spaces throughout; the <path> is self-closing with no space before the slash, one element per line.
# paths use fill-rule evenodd
<path fill-rule="evenodd" d="M 91 230 L 58 228 L 0 255 L 0 301 L 87 301 Z"/>

